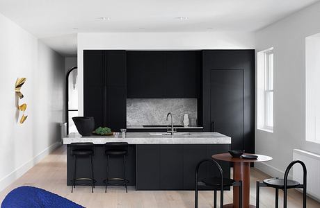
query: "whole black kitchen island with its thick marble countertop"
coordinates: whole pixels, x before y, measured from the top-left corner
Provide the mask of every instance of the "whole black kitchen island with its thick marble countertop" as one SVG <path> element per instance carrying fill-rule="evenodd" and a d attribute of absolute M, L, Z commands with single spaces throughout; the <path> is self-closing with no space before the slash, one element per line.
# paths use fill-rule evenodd
<path fill-rule="evenodd" d="M 93 168 L 96 185 L 104 185 L 106 177 L 106 142 L 127 142 L 127 179 L 129 185 L 137 190 L 192 190 L 194 189 L 195 166 L 201 159 L 211 155 L 226 153 L 230 150 L 231 138 L 218 132 L 177 132 L 168 135 L 163 132 L 127 132 L 126 137 L 90 136 L 81 137 L 72 133 L 63 139 L 67 145 L 67 185 L 71 185 L 73 175 L 73 157 L 70 144 L 74 142 L 92 142 L 95 144 Z M 77 175 L 90 175 L 88 158 L 79 158 Z M 230 177 L 230 165 L 219 162 L 223 167 L 224 177 Z M 200 177 L 216 175 L 210 166 L 203 166 Z M 122 177 L 122 158 L 112 158 L 109 175 Z"/>

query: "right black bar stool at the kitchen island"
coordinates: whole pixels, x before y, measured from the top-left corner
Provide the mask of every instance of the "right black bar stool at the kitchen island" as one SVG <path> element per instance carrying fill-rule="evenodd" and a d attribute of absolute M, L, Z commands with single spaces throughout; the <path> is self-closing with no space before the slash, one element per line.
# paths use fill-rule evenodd
<path fill-rule="evenodd" d="M 126 175 L 127 165 L 126 165 L 126 161 L 125 161 L 125 156 L 128 155 L 129 144 L 127 142 L 108 142 L 104 146 L 105 146 L 104 153 L 107 156 L 107 159 L 106 159 L 106 180 L 104 180 L 106 187 L 108 187 L 109 184 L 110 185 L 125 185 L 125 191 L 128 192 L 127 183 L 129 183 L 129 180 L 127 180 L 127 175 Z M 109 178 L 108 177 L 109 176 L 109 157 L 110 156 L 115 156 L 115 157 L 122 156 L 123 170 L 125 173 L 124 174 L 125 178 L 120 178 L 120 177 Z M 118 181 L 118 183 L 112 182 L 112 181 Z"/>

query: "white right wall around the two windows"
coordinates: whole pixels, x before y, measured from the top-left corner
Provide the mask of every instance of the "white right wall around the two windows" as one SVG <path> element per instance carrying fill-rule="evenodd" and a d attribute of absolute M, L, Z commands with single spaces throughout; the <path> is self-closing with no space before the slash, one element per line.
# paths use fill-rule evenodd
<path fill-rule="evenodd" d="M 256 152 L 273 157 L 256 164 L 281 176 L 299 148 L 320 153 L 320 145 L 305 141 L 305 37 L 320 32 L 320 3 L 309 6 L 256 33 L 256 51 L 274 51 L 273 133 L 256 130 Z"/>

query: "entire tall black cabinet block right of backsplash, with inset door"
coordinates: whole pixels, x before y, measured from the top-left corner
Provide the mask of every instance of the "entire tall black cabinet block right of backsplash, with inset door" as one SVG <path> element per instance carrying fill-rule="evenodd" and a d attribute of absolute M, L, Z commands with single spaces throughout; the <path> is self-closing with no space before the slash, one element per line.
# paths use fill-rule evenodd
<path fill-rule="evenodd" d="M 202 51 L 204 131 L 232 137 L 232 149 L 255 153 L 255 51 Z"/>

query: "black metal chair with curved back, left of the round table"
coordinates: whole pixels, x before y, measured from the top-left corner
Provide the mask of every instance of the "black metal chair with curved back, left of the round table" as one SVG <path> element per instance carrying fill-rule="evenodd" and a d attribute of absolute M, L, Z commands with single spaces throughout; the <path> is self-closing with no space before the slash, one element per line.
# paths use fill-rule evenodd
<path fill-rule="evenodd" d="M 199 168 L 205 162 L 214 164 L 219 170 L 220 177 L 209 177 L 199 181 Z M 195 168 L 195 208 L 198 207 L 198 187 L 211 187 L 214 189 L 214 208 L 216 208 L 216 193 L 221 191 L 220 194 L 220 207 L 223 207 L 223 189 L 226 187 L 239 187 L 239 208 L 242 208 L 242 181 L 236 182 L 230 178 L 223 178 L 223 169 L 214 159 L 203 159 Z"/>

